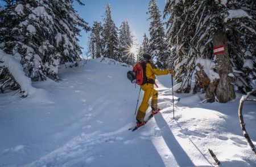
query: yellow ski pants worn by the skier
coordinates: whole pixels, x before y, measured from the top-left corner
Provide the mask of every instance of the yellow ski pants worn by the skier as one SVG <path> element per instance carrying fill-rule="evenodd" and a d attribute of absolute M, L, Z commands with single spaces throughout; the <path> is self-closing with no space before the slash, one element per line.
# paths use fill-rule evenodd
<path fill-rule="evenodd" d="M 141 106 L 139 106 L 139 110 L 137 113 L 137 121 L 143 121 L 146 115 L 146 110 L 148 108 L 148 101 L 152 97 L 151 106 L 152 108 L 158 108 L 158 91 L 154 89 L 154 84 L 143 84 L 141 85 L 141 89 L 144 91 L 143 100 L 141 102 Z"/>

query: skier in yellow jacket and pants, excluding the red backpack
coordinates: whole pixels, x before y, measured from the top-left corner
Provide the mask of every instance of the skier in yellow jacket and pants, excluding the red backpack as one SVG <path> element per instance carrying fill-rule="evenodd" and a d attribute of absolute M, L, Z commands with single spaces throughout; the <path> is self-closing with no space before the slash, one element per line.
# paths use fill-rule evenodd
<path fill-rule="evenodd" d="M 160 109 L 158 109 L 158 91 L 154 89 L 155 75 L 174 75 L 174 71 L 171 70 L 159 70 L 153 63 L 152 57 L 148 53 L 143 53 L 143 58 L 146 63 L 146 77 L 148 82 L 141 85 L 141 89 L 144 91 L 143 100 L 139 106 L 137 113 L 137 127 L 144 125 L 144 117 L 146 115 L 146 110 L 148 108 L 148 101 L 151 100 L 152 114 L 156 114 Z"/>

